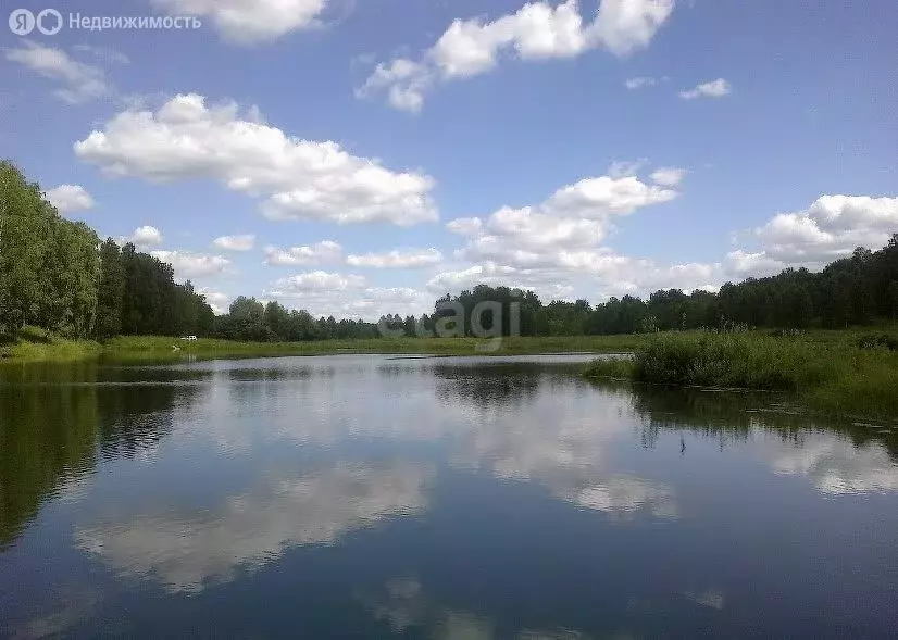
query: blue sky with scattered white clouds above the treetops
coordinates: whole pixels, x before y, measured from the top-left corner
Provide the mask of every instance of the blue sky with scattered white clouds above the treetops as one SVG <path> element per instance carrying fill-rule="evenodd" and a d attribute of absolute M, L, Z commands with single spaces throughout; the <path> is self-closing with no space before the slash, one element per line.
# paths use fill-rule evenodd
<path fill-rule="evenodd" d="M 217 311 L 377 319 L 479 283 L 595 304 L 898 233 L 893 0 L 2 13 L 0 156 Z"/>

